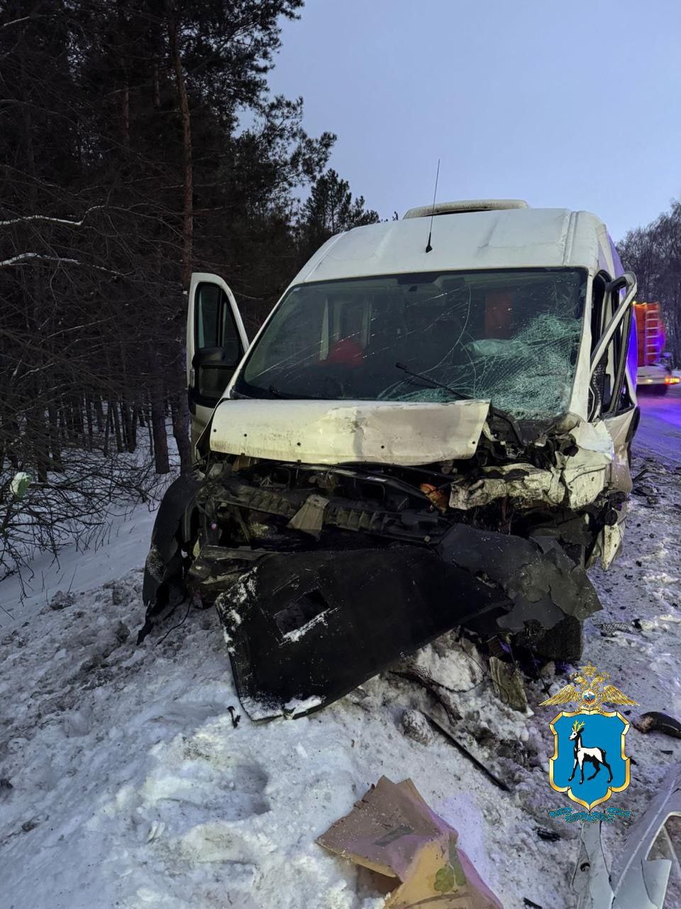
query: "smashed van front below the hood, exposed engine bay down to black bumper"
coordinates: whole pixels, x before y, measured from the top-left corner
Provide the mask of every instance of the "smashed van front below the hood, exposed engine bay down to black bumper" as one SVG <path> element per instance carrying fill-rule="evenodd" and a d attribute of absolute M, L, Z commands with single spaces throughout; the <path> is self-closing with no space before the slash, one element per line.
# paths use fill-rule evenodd
<path fill-rule="evenodd" d="M 204 445 L 163 500 L 140 636 L 188 595 L 214 604 L 252 719 L 317 710 L 455 626 L 576 660 L 586 568 L 621 541 L 615 461 L 604 423 L 571 416 L 487 414 L 472 456 L 410 466 Z"/>

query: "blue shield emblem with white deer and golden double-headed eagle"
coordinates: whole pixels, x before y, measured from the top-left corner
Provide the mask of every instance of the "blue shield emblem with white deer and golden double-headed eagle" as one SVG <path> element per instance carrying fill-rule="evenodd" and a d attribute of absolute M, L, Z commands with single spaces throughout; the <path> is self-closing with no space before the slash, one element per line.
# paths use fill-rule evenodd
<path fill-rule="evenodd" d="M 561 711 L 550 724 L 554 753 L 549 758 L 551 787 L 590 811 L 629 784 L 629 758 L 625 754 L 627 720 L 604 704 L 637 704 L 610 678 L 588 664 L 570 675 L 571 684 L 542 701 L 541 706 L 577 703 L 577 710 Z"/>

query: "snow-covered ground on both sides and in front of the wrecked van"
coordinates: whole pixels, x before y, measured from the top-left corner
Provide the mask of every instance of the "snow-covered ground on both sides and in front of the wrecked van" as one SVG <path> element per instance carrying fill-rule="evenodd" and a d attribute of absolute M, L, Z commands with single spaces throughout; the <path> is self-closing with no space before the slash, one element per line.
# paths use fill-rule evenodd
<path fill-rule="evenodd" d="M 665 401 L 681 412 L 681 399 Z M 646 405 L 635 472 L 648 474 L 631 499 L 625 554 L 593 573 L 604 610 L 587 624 L 584 654 L 640 702 L 632 718 L 681 716 L 681 464 L 667 448 L 673 432 L 656 451 L 649 423 L 665 413 L 648 419 Z M 506 909 L 574 906 L 577 829 L 548 817 L 565 802 L 548 785 L 555 710 L 538 706 L 542 684 L 528 684 L 526 716 L 498 704 L 453 636 L 418 656 L 461 692 L 449 695 L 456 734 L 510 793 L 438 733 L 425 743 L 404 734 L 405 710 L 441 714 L 394 674 L 320 714 L 269 724 L 242 714 L 234 728 L 227 708 L 241 711 L 212 611 L 173 628 L 181 611 L 134 645 L 150 522 L 123 524 L 110 549 L 77 556 L 72 594 L 53 593 L 68 588 L 70 564 L 63 581 L 46 575 L 42 604 L 25 613 L 15 604 L 0 628 L 3 909 L 378 909 L 368 875 L 314 840 L 381 774 L 414 780 Z M 617 804 L 636 816 L 681 760 L 681 740 L 635 728 L 627 739 L 637 763 Z M 607 826 L 608 850 L 626 827 Z"/>

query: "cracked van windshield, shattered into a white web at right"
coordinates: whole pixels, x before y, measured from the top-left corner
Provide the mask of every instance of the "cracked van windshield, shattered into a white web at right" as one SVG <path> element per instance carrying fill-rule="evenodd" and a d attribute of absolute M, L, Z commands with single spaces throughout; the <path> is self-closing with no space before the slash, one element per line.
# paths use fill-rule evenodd
<path fill-rule="evenodd" d="M 296 285 L 235 390 L 325 400 L 489 398 L 521 419 L 558 415 L 575 374 L 586 286 L 587 273 L 569 268 Z"/>

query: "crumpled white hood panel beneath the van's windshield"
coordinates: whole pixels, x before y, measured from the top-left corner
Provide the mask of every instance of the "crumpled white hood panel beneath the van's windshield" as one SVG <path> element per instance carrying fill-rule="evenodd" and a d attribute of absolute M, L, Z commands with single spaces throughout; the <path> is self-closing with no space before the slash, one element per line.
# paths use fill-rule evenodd
<path fill-rule="evenodd" d="M 212 451 L 302 464 L 433 464 L 472 457 L 489 401 L 224 400 Z"/>

